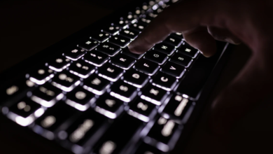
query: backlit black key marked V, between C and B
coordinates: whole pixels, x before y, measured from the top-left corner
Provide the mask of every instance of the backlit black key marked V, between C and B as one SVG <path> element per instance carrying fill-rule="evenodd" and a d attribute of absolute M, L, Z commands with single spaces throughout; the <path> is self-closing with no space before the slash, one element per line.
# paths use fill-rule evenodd
<path fill-rule="evenodd" d="M 186 71 L 185 67 L 173 63 L 173 62 L 167 62 L 162 67 L 162 72 L 168 73 L 171 76 L 175 76 L 176 78 L 181 78 L 183 76 L 183 73 Z"/>

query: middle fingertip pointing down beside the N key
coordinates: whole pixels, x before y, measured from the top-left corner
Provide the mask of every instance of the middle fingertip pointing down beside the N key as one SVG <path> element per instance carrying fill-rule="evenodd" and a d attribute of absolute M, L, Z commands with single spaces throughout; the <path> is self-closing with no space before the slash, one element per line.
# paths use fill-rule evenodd
<path fill-rule="evenodd" d="M 183 33 L 187 43 L 197 48 L 206 57 L 214 55 L 216 52 L 216 41 L 208 33 L 207 27 L 197 27 Z"/>

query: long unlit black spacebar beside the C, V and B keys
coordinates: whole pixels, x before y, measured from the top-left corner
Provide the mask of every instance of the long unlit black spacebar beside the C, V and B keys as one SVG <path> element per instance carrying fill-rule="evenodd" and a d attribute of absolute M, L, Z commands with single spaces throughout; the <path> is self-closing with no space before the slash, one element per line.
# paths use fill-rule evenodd
<path fill-rule="evenodd" d="M 181 80 L 181 83 L 176 88 L 176 92 L 197 98 L 219 57 L 220 54 L 209 58 L 200 55 L 185 78 Z"/>

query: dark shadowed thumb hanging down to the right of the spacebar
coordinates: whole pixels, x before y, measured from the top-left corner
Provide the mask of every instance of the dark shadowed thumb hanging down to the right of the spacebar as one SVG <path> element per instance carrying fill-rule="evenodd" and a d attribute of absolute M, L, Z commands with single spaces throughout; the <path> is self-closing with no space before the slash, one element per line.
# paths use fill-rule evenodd
<path fill-rule="evenodd" d="M 228 134 L 237 120 L 272 92 L 272 64 L 262 59 L 253 57 L 214 101 L 210 118 L 214 133 Z"/>

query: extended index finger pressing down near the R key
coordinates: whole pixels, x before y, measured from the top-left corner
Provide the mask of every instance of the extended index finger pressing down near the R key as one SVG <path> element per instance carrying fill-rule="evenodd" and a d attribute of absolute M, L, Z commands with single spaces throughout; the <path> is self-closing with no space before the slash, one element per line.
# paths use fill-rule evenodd
<path fill-rule="evenodd" d="M 200 23 L 214 22 L 215 5 L 208 1 L 182 1 L 170 6 L 158 15 L 139 36 L 130 43 L 134 53 L 143 53 L 155 43 L 164 40 L 172 32 L 195 29 Z M 194 11 L 193 11 L 194 10 Z"/>

